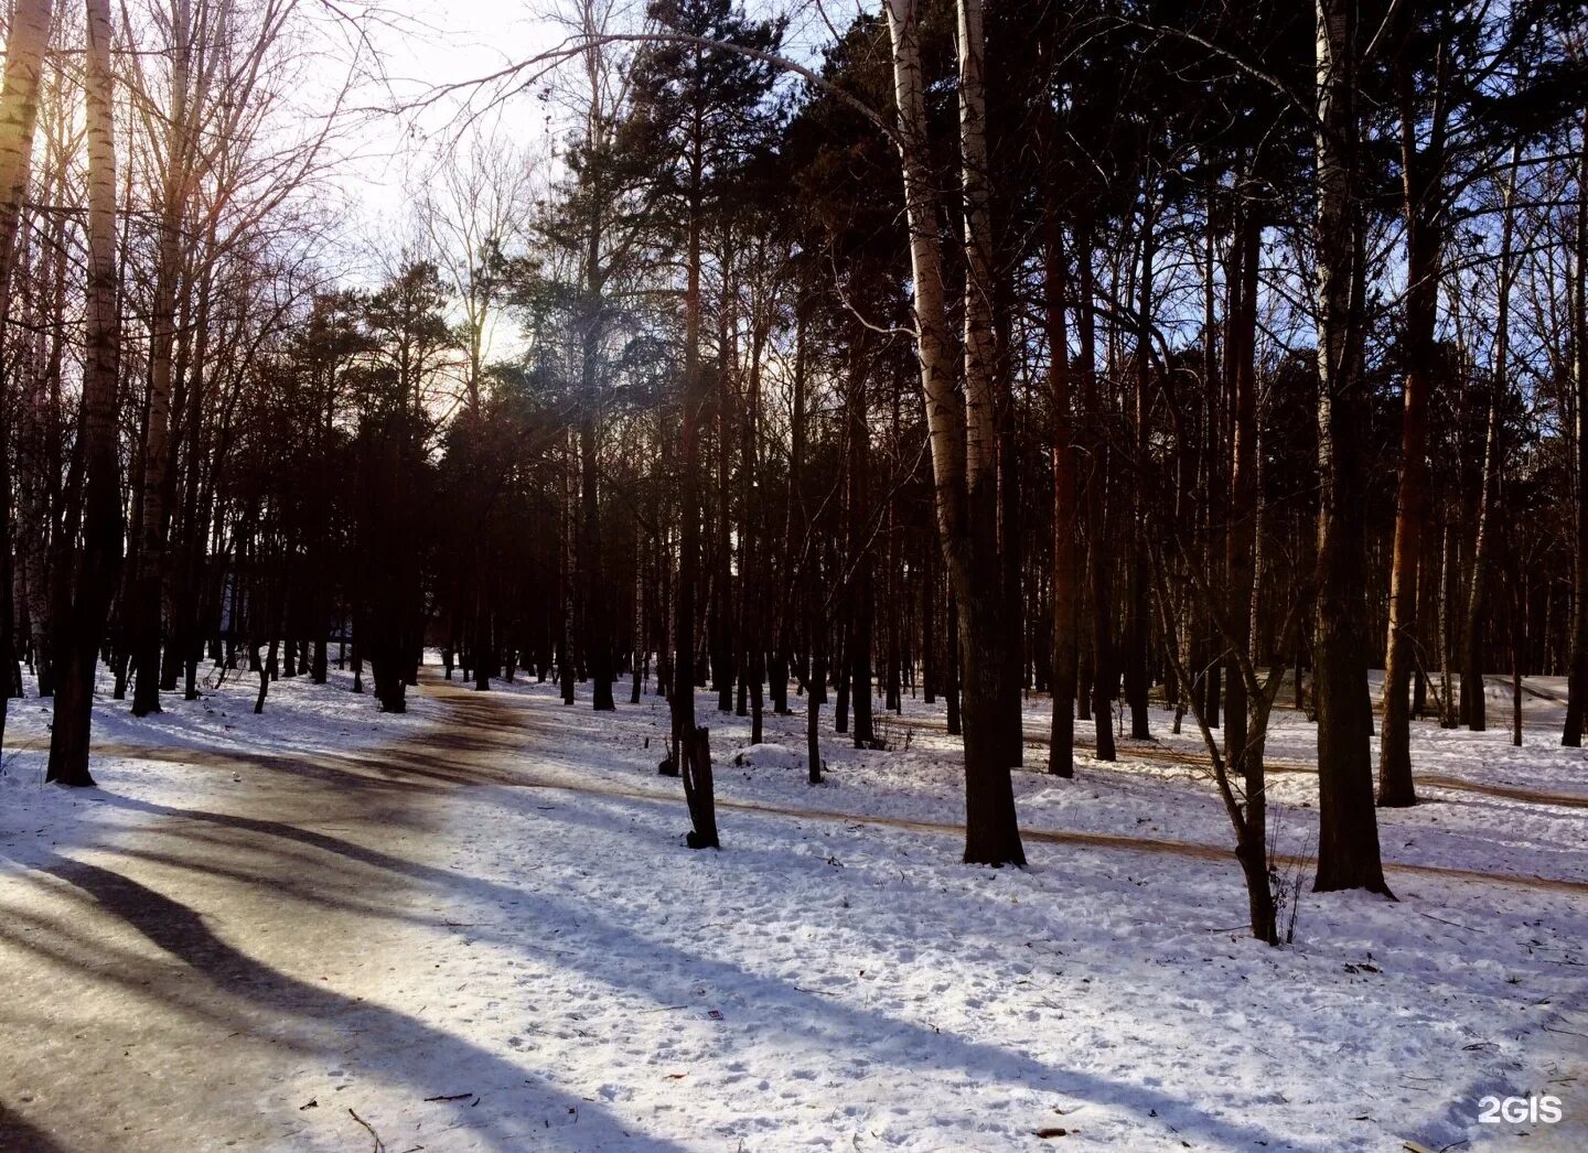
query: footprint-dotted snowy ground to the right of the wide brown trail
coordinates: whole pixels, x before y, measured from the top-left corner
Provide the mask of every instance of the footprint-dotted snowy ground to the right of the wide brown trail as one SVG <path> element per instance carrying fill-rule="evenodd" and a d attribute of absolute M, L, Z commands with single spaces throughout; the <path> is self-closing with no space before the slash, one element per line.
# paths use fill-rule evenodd
<path fill-rule="evenodd" d="M 1297 943 L 1269 950 L 1240 929 L 1232 861 L 1031 840 L 1024 872 L 967 869 L 951 834 L 729 807 L 726 851 L 689 853 L 676 783 L 654 772 L 661 702 L 599 716 L 583 692 L 569 710 L 551 684 L 508 691 L 534 718 L 524 775 L 567 791 L 456 797 L 446 867 L 470 880 L 448 905 L 456 940 L 435 951 L 449 993 L 402 996 L 432 1001 L 437 1023 L 468 1020 L 557 1091 L 459 1069 L 434 1088 L 470 1096 L 432 1104 L 441 1116 L 399 1109 L 397 1148 L 438 1131 L 446 1148 L 515 1147 L 526 1124 L 594 1110 L 557 1145 L 600 1148 L 618 1126 L 689 1148 L 1021 1148 L 1043 1129 L 1127 1148 L 1442 1148 L 1490 1136 L 1486 1093 L 1588 1109 L 1553 1083 L 1575 1075 L 1558 1043 L 1575 1039 L 1547 1031 L 1583 1028 L 1582 813 L 1456 796 L 1388 815 L 1391 861 L 1583 885 L 1393 873 L 1401 904 L 1304 893 Z M 699 715 L 724 800 L 959 818 L 946 737 L 856 753 L 829 735 L 832 777 L 813 789 L 802 716 L 769 716 L 769 740 L 746 748 L 746 723 L 713 700 Z M 1283 792 L 1283 837 L 1304 850 L 1312 783 Z M 1032 829 L 1229 839 L 1185 767 L 1023 773 L 1018 797 Z"/>

